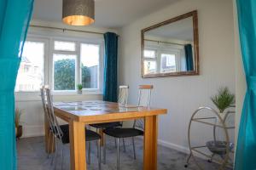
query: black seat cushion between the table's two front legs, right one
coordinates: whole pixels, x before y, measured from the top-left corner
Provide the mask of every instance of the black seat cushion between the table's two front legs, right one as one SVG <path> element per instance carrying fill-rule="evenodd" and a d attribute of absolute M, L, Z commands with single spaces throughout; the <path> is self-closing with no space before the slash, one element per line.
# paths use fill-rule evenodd
<path fill-rule="evenodd" d="M 112 136 L 114 138 L 129 138 L 135 136 L 142 136 L 144 132 L 137 128 L 108 128 L 103 130 L 103 133 L 108 134 L 108 136 Z"/>

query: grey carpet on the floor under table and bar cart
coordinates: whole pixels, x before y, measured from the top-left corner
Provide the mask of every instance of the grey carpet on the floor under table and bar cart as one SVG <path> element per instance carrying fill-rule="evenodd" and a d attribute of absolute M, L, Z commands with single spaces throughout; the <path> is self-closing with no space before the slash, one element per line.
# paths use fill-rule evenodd
<path fill-rule="evenodd" d="M 107 147 L 107 164 L 102 164 L 102 170 L 116 169 L 116 148 L 113 138 L 108 138 Z M 133 159 L 133 150 L 131 139 L 125 139 L 126 152 L 124 152 L 123 144 L 120 144 L 120 170 L 141 170 L 143 169 L 143 140 L 136 139 L 137 160 Z M 44 137 L 26 138 L 17 141 L 18 150 L 18 169 L 19 170 L 51 170 L 50 158 L 44 151 Z M 89 170 L 97 170 L 96 144 L 91 144 L 91 164 Z M 158 146 L 158 169 L 159 170 L 195 170 L 199 169 L 195 166 L 195 161 L 191 160 L 189 167 L 185 168 L 184 164 L 187 155 L 177 150 Z M 58 156 L 60 158 L 60 156 Z M 208 163 L 205 160 L 199 160 L 207 170 L 218 169 L 214 163 Z M 60 159 L 57 160 L 57 169 L 61 169 Z M 64 146 L 63 170 L 69 169 L 69 144 Z"/>

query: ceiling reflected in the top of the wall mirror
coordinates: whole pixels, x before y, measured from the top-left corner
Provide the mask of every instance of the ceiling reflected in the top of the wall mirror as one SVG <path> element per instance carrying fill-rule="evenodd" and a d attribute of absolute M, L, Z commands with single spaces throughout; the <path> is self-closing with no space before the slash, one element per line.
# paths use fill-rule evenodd
<path fill-rule="evenodd" d="M 192 17 L 178 20 L 166 26 L 161 26 L 146 32 L 147 36 L 162 37 L 193 42 L 193 20 Z"/>

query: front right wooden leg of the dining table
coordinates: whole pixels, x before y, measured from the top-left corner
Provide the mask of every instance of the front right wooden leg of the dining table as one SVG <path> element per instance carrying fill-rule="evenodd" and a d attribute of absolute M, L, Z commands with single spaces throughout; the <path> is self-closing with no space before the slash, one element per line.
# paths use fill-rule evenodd
<path fill-rule="evenodd" d="M 146 116 L 144 126 L 143 170 L 157 170 L 158 117 Z"/>

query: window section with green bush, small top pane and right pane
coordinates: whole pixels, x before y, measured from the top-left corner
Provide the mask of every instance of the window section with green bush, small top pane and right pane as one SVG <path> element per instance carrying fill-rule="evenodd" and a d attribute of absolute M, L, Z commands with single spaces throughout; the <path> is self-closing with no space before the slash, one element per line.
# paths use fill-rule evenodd
<path fill-rule="evenodd" d="M 79 83 L 84 90 L 100 90 L 102 44 L 62 41 L 54 44 L 54 91 L 75 91 Z"/>

